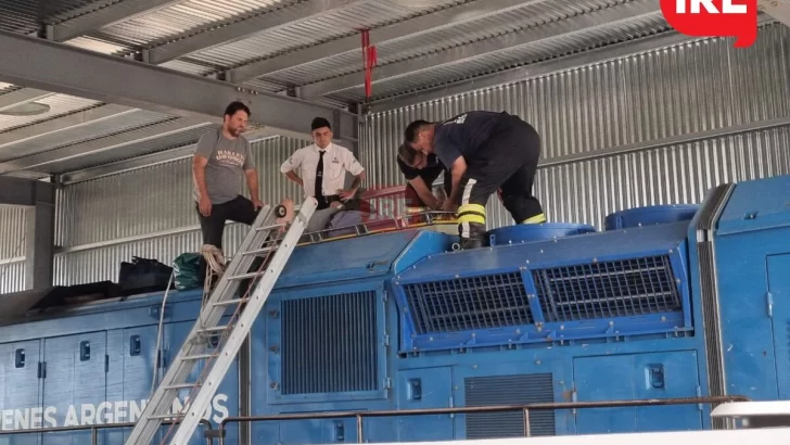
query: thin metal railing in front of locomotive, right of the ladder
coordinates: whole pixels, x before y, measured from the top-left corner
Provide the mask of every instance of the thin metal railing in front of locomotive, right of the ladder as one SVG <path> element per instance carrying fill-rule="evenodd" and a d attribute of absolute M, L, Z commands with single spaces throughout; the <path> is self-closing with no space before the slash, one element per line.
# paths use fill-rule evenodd
<path fill-rule="evenodd" d="M 633 406 L 665 406 L 665 405 L 703 405 L 724 404 L 729 402 L 751 402 L 748 397 L 709 396 L 709 397 L 679 397 L 679 398 L 645 398 L 635 400 L 607 400 L 607 402 L 555 402 L 530 405 L 495 405 L 455 408 L 423 408 L 382 411 L 327 411 L 305 412 L 271 416 L 228 417 L 219 423 L 219 429 L 212 434 L 219 438 L 219 445 L 225 445 L 226 427 L 229 423 L 260 422 L 276 420 L 317 420 L 356 418 L 357 443 L 364 443 L 362 419 L 366 417 L 399 417 L 399 416 L 428 416 L 428 415 L 462 415 L 476 412 L 512 412 L 521 411 L 524 416 L 524 436 L 530 437 L 530 411 L 553 409 L 587 409 L 587 408 L 626 408 Z"/>

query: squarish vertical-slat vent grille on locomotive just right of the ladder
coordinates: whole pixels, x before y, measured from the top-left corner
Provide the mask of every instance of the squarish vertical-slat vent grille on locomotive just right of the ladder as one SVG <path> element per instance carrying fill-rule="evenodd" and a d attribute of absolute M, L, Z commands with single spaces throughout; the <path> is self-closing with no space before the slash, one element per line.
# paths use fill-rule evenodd
<path fill-rule="evenodd" d="M 379 389 L 377 294 L 282 302 L 282 389 L 288 394 Z"/>

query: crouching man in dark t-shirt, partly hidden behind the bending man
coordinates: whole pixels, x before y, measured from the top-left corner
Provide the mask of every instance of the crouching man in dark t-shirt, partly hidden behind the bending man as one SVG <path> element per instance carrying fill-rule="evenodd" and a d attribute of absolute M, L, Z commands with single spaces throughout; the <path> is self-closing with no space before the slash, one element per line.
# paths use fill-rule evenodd
<path fill-rule="evenodd" d="M 445 196 L 449 196 L 453 191 L 453 182 L 449 170 L 438 162 L 436 155 L 424 156 L 419 153 L 413 161 L 413 167 L 406 164 L 399 155 L 397 156 L 397 163 L 400 173 L 408 181 L 406 185 L 407 213 L 417 213 L 429 208 L 439 209 L 443 201 L 436 199 L 433 194 L 433 183 L 444 173 Z"/>

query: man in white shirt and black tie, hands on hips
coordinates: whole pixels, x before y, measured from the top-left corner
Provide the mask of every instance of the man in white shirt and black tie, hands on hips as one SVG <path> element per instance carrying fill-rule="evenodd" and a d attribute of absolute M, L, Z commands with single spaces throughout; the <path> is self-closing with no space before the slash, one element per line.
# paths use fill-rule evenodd
<path fill-rule="evenodd" d="M 316 117 L 310 125 L 315 143 L 296 150 L 280 171 L 302 186 L 305 198 L 314 196 L 318 206 L 306 231 L 322 230 L 327 221 L 353 199 L 365 179 L 365 168 L 354 153 L 332 142 L 332 127 L 323 117 Z M 345 188 L 346 171 L 354 175 L 352 186 Z"/>

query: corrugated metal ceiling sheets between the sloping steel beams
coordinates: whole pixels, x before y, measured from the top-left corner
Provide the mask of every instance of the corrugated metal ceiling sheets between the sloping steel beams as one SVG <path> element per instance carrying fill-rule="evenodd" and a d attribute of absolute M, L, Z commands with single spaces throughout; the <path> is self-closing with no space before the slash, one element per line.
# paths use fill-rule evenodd
<path fill-rule="evenodd" d="M 285 86 L 300 87 L 349 74 L 359 76 L 359 79 L 362 78 L 360 73 L 361 51 L 356 49 L 356 43 L 345 43 L 344 50 L 334 54 L 322 52 L 321 49 L 327 42 L 334 43 L 339 41 L 337 39 L 343 38 L 346 38 L 347 41 L 352 39 L 351 41 L 354 42 L 359 40 L 358 33 L 361 28 L 375 30 L 411 20 L 430 18 L 433 14 L 451 13 L 456 9 L 462 10 L 463 13 L 459 12 L 458 17 L 447 15 L 451 20 L 433 20 L 433 25 L 425 28 L 415 29 L 415 26 L 411 28 L 407 26 L 403 31 L 398 31 L 396 27 L 391 26 L 395 29 L 393 33 L 388 33 L 391 40 L 372 42 L 378 47 L 380 66 L 404 61 L 408 63 L 412 60 L 416 65 L 413 72 L 399 73 L 387 79 L 378 79 L 373 88 L 374 99 L 462 80 L 666 29 L 666 24 L 658 12 L 658 0 L 655 0 L 657 14 L 654 16 L 635 16 L 633 20 L 621 21 L 610 26 L 600 26 L 603 24 L 596 23 L 595 12 L 627 8 L 629 3 L 639 2 L 639 0 L 524 0 L 521 3 L 518 0 L 348 0 L 347 2 L 316 0 L 316 5 L 335 8 L 322 14 L 305 14 L 302 20 L 270 28 L 255 29 L 247 26 L 244 28 L 244 33 L 234 36 L 230 41 L 209 41 L 214 35 L 221 34 L 213 33 L 217 29 L 244 26 L 245 23 L 250 23 L 249 21 L 260 20 L 272 11 L 280 11 L 277 12 L 278 14 L 289 8 L 294 9 L 293 11 L 313 11 L 315 8 L 305 7 L 313 0 L 150 1 L 146 3 L 152 8 L 150 11 L 143 11 L 122 21 L 105 18 L 113 16 L 113 9 L 129 8 L 129 2 L 133 1 L 138 0 L 54 0 L 46 2 L 46 9 L 40 9 L 36 2 L 0 0 L 0 29 L 44 36 L 47 34 L 46 25 L 63 25 L 69 29 L 81 29 L 79 25 L 74 25 L 74 27 L 72 25 L 77 24 L 78 20 L 87 17 L 89 23 L 95 23 L 94 28 L 84 29 L 80 37 L 64 43 L 103 54 L 122 56 L 139 54 L 146 49 L 156 51 L 169 48 L 168 43 L 190 41 L 189 39 L 194 36 L 208 37 L 201 41 L 211 44 L 206 43 L 203 46 L 204 48 L 196 48 L 196 51 L 195 48 L 191 48 L 192 52 L 181 54 L 161 66 L 197 76 L 221 76 L 222 72 L 227 69 L 245 66 L 267 58 L 282 58 L 280 60 L 285 63 L 280 66 L 279 71 L 243 81 L 243 85 L 250 88 L 282 92 Z M 506 9 L 492 11 L 490 4 L 494 1 L 505 5 Z M 480 8 L 477 8 L 479 5 Z M 485 5 L 487 9 L 483 8 Z M 588 15 L 592 18 L 587 17 Z M 547 23 L 563 23 L 578 17 L 588 18 L 583 22 L 586 28 L 576 29 L 573 35 L 560 35 L 535 43 L 514 44 L 512 48 L 499 49 L 492 53 L 474 53 L 474 51 L 467 53 L 464 50 L 461 51 L 463 60 L 459 60 L 457 63 L 454 61 L 454 63 L 441 64 L 436 67 L 432 67 L 430 55 L 425 55 L 442 53 L 448 49 L 464 49 L 466 46 L 471 47 L 475 42 L 487 39 L 509 38 L 524 29 L 539 28 Z M 95 18 L 95 21 L 90 21 L 91 18 Z M 290 64 L 286 59 L 290 52 L 303 49 L 317 50 L 316 59 Z M 423 59 L 425 63 L 422 63 Z M 422 65 L 418 66 L 420 64 Z M 354 77 L 354 81 L 356 81 L 356 77 Z M 0 94 L 15 88 L 10 85 L 0 85 Z M 354 86 L 314 98 L 316 102 L 333 106 L 342 106 L 351 101 L 362 99 L 362 89 Z M 21 126 L 34 128 L 36 124 L 102 105 L 95 101 L 64 94 L 54 94 L 38 102 L 49 104 L 51 111 L 42 115 L 26 117 L 0 115 L 0 132 Z M 68 143 L 88 141 L 167 118 L 164 115 L 154 116 L 154 114 L 145 113 L 136 113 L 133 116 L 140 117 L 139 119 L 124 120 L 117 126 L 114 126 L 113 120 L 110 119 L 104 123 L 82 123 L 76 130 L 60 129 L 43 139 L 36 138 L 37 143 L 47 142 L 38 145 L 36 150 L 50 150 L 58 140 Z M 149 142 L 150 151 L 157 151 L 158 147 L 169 147 L 173 138 L 189 140 L 192 137 L 189 131 L 181 136 L 168 135 L 161 144 Z M 31 150 L 34 150 L 33 145 L 22 151 L 31 153 Z M 97 162 L 111 162 L 125 157 L 128 156 L 124 153 L 107 152 L 100 158 L 86 161 L 78 157 L 64 161 L 63 164 L 51 164 L 48 169 L 68 171 L 69 168 L 84 168 L 88 165 L 86 162 L 93 165 Z"/>

